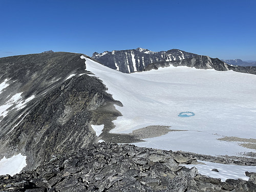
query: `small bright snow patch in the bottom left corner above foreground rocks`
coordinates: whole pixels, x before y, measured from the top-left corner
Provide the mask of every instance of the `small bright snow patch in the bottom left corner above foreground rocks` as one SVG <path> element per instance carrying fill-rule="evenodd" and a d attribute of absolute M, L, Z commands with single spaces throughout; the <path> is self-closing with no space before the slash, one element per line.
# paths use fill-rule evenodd
<path fill-rule="evenodd" d="M 3 158 L 0 160 L 0 175 L 13 176 L 18 174 L 26 165 L 26 157 L 22 154 L 14 155 L 11 158 Z"/>

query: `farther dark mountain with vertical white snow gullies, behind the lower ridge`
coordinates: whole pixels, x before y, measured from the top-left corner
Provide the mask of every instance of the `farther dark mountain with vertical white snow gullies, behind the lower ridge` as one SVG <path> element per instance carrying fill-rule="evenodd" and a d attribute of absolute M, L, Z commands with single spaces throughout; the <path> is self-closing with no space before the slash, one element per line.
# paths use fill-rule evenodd
<path fill-rule="evenodd" d="M 168 51 L 153 52 L 147 49 L 137 48 L 133 50 L 105 51 L 103 53 L 93 53 L 92 58 L 96 59 L 104 66 L 116 69 L 123 73 L 143 71 L 144 68 L 153 62 L 172 61 L 191 58 L 197 54 L 188 53 L 178 49 Z"/>

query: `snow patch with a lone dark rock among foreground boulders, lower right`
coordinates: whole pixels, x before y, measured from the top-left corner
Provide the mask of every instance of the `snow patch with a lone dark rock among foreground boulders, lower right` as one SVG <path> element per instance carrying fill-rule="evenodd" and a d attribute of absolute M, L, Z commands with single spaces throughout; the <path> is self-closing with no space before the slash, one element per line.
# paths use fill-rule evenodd
<path fill-rule="evenodd" d="M 245 176 L 245 172 L 256 172 L 256 166 L 241 166 L 241 165 L 230 165 L 221 163 L 212 163 L 207 161 L 200 161 L 205 163 L 205 165 L 184 165 L 187 168 L 196 167 L 198 173 L 201 175 L 206 175 L 212 178 L 221 178 L 221 181 L 226 181 L 226 179 L 243 179 L 245 181 L 249 180 L 249 177 Z M 219 172 L 212 171 L 212 169 L 217 168 Z"/>

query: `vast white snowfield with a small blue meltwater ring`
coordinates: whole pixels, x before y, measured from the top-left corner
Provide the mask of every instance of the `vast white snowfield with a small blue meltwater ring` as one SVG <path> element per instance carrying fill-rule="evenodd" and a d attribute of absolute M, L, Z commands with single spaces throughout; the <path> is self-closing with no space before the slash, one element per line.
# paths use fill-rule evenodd
<path fill-rule="evenodd" d="M 188 131 L 169 132 L 135 144 L 207 155 L 255 152 L 218 138 L 256 138 L 256 75 L 185 66 L 125 74 L 89 58 L 86 65 L 123 104 L 115 105 L 122 116 L 113 121 L 116 127 L 111 133 L 166 125 Z M 187 111 L 195 116 L 178 116 Z"/>

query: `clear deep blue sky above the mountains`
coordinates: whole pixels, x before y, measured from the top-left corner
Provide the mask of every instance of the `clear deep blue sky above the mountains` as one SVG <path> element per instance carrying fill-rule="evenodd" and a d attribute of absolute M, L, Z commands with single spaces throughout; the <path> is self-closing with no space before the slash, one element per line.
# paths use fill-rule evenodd
<path fill-rule="evenodd" d="M 180 49 L 256 60 L 255 0 L 0 0 L 0 57 Z"/>

